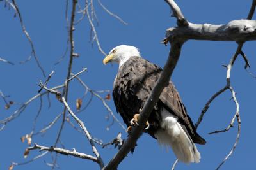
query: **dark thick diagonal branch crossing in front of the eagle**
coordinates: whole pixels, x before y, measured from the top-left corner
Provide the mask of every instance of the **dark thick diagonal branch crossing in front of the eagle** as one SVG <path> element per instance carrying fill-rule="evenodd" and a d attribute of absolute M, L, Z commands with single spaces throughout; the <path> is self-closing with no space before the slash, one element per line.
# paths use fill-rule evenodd
<path fill-rule="evenodd" d="M 168 82 L 170 80 L 170 76 L 173 73 L 173 69 L 175 68 L 179 57 L 180 57 L 180 49 L 182 46 L 182 42 L 173 41 L 171 43 L 171 50 L 169 53 L 168 60 L 164 66 L 163 72 L 161 73 L 161 76 L 157 80 L 156 85 L 154 86 L 154 89 L 152 90 L 150 96 L 148 97 L 142 111 L 140 114 L 140 118 L 138 120 L 138 126 L 134 127 L 132 129 L 131 135 L 127 138 L 124 145 L 120 148 L 119 152 L 116 153 L 116 155 L 113 157 L 113 159 L 110 160 L 108 165 L 106 165 L 103 169 L 116 169 L 118 164 L 122 162 L 124 157 L 129 153 L 129 151 L 134 148 L 136 141 L 141 135 L 141 132 L 143 131 L 145 124 L 148 120 L 148 117 L 150 116 L 150 113 L 155 106 L 156 102 L 159 99 L 159 96 L 161 92 L 163 91 L 164 87 L 168 85 Z"/>

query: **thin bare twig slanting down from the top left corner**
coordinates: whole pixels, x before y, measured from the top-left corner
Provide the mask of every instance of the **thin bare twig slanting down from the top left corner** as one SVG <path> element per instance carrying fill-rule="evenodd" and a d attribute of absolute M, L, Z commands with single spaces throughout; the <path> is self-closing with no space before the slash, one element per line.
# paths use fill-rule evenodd
<path fill-rule="evenodd" d="M 25 25 L 24 25 L 24 23 L 23 23 L 23 20 L 22 20 L 21 14 L 20 14 L 20 10 L 19 10 L 19 8 L 18 8 L 18 6 L 17 6 L 17 3 L 16 3 L 15 0 L 12 0 L 12 3 L 13 3 L 13 6 L 14 6 L 14 9 L 15 9 L 16 13 L 17 13 L 18 16 L 19 16 L 20 24 L 21 24 L 21 27 L 22 27 L 22 31 L 24 32 L 24 34 L 25 34 L 26 38 L 28 39 L 29 44 L 30 44 L 30 46 L 31 46 L 31 50 L 32 50 L 31 54 L 32 54 L 33 57 L 35 58 L 37 66 L 40 68 L 40 70 L 42 71 L 42 73 L 43 73 L 43 75 L 44 75 L 44 77 L 45 77 L 44 69 L 43 69 L 43 67 L 42 67 L 41 64 L 40 64 L 40 62 L 39 62 L 39 60 L 38 60 L 38 57 L 36 56 L 36 51 L 35 51 L 34 44 L 33 44 L 32 40 L 31 40 L 31 38 L 30 38 L 30 36 L 29 36 L 29 34 L 28 34 L 28 31 L 26 31 L 26 27 L 25 27 Z"/>

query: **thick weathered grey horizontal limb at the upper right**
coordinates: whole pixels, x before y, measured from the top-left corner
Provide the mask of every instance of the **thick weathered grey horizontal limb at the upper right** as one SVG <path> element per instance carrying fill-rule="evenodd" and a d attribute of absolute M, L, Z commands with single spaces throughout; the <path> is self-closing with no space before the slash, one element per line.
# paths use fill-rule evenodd
<path fill-rule="evenodd" d="M 232 20 L 225 25 L 193 24 L 189 22 L 187 27 L 171 27 L 166 31 L 166 38 L 179 37 L 187 41 L 252 41 L 256 40 L 255 20 Z"/>

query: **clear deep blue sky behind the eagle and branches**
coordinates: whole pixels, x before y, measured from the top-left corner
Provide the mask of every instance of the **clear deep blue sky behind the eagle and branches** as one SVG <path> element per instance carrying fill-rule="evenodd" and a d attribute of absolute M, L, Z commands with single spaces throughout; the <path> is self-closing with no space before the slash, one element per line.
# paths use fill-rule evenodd
<path fill-rule="evenodd" d="M 128 25 L 120 23 L 111 17 L 94 1 L 95 12 L 99 25 L 96 27 L 100 44 L 105 52 L 109 52 L 117 45 L 133 45 L 140 48 L 141 55 L 147 60 L 163 67 L 167 59 L 169 46 L 164 46 L 160 41 L 164 38 L 165 30 L 175 26 L 175 18 L 170 17 L 170 8 L 164 1 L 114 1 L 102 0 L 102 3 L 113 13 L 120 16 Z M 251 1 L 177 1 L 184 16 L 190 22 L 196 24 L 227 24 L 230 20 L 246 18 L 250 9 Z M 17 1 L 20 12 L 29 32 L 35 50 L 44 67 L 46 74 L 55 71 L 48 87 L 60 85 L 65 80 L 68 66 L 68 56 L 58 64 L 54 62 L 60 59 L 67 45 L 67 29 L 65 21 L 65 1 Z M 83 4 L 83 3 L 81 3 Z M 0 57 L 14 62 L 15 65 L 0 62 L 0 90 L 10 95 L 8 100 L 24 103 L 35 96 L 38 91 L 38 81 L 45 80 L 36 66 L 35 60 L 26 64 L 19 61 L 26 60 L 31 53 L 29 43 L 22 34 L 19 19 L 14 18 L 12 8 L 4 8 L 4 1 L 0 2 Z M 70 13 L 70 11 L 69 11 Z M 77 14 L 76 20 L 81 15 Z M 96 22 L 95 22 L 95 25 Z M 88 71 L 81 75 L 83 81 L 93 90 L 111 90 L 118 66 L 110 64 L 104 66 L 104 55 L 99 52 L 97 45 L 90 43 L 90 25 L 85 18 L 76 25 L 74 31 L 75 52 L 80 57 L 74 59 L 72 73 L 81 71 L 86 67 Z M 236 50 L 234 42 L 214 41 L 188 41 L 182 48 L 179 63 L 173 73 L 172 81 L 179 90 L 180 96 L 188 110 L 189 115 L 196 122 L 200 111 L 209 97 L 225 85 L 226 70 L 222 64 L 228 64 L 230 57 Z M 250 60 L 250 71 L 256 73 L 255 42 L 246 42 L 243 52 Z M 256 80 L 244 70 L 244 60 L 239 57 L 231 73 L 231 81 L 237 92 L 237 100 L 241 112 L 241 138 L 234 155 L 223 165 L 222 169 L 252 169 L 255 161 L 255 136 L 252 126 L 256 118 L 255 97 Z M 76 110 L 75 101 L 83 96 L 84 89 L 74 80 L 70 83 L 68 103 L 72 110 Z M 102 97 L 107 93 L 102 94 Z M 177 169 L 215 169 L 223 158 L 230 152 L 236 139 L 237 123 L 229 132 L 209 135 L 208 132 L 227 127 L 236 111 L 233 101 L 230 101 L 230 92 L 221 94 L 210 106 L 205 118 L 198 128 L 207 141 L 206 145 L 198 145 L 202 155 L 200 164 L 178 164 Z M 84 98 L 83 103 L 90 99 L 90 95 Z M 63 104 L 51 96 L 51 108 L 48 109 L 47 96 L 43 97 L 43 108 L 36 131 L 42 129 L 53 120 L 56 115 L 63 111 Z M 108 101 L 110 108 L 116 117 L 113 101 Z M 40 100 L 33 101 L 26 110 L 0 131 L 0 168 L 8 169 L 11 162 L 24 162 L 36 155 L 38 151 L 29 153 L 27 159 L 23 153 L 26 143 L 20 142 L 20 137 L 31 132 L 33 120 L 40 105 Z M 0 118 L 8 117 L 17 109 L 17 105 L 9 110 L 4 109 L 4 101 L 0 99 Z M 96 138 L 104 142 L 111 141 L 118 132 L 124 130 L 115 122 L 109 130 L 111 118 L 106 119 L 108 112 L 97 97 L 93 97 L 88 108 L 79 114 L 88 131 Z M 73 121 L 74 122 L 74 121 Z M 78 127 L 78 126 L 77 126 Z M 44 136 L 35 136 L 32 143 L 51 146 L 56 140 L 56 134 L 60 128 L 60 120 Z M 66 124 L 61 135 L 65 148 L 76 148 L 78 152 L 92 154 L 87 139 Z M 58 145 L 60 146 L 60 145 Z M 106 164 L 115 155 L 112 146 L 102 149 L 97 145 L 100 155 Z M 143 134 L 138 140 L 138 146 L 133 155 L 129 153 L 127 158 L 120 164 L 119 169 L 170 169 L 175 157 L 172 153 L 161 148 L 155 139 Z M 31 164 L 15 167 L 15 169 L 50 169 L 45 162 L 51 163 L 51 155 L 48 154 Z M 61 169 L 99 169 L 92 161 L 77 159 L 70 156 L 60 155 L 58 165 Z"/>

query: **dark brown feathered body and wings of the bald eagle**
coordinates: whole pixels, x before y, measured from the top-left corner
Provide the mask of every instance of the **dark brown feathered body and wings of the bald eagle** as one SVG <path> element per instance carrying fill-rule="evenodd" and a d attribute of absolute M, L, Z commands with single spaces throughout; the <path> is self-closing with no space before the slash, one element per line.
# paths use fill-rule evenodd
<path fill-rule="evenodd" d="M 114 82 L 113 99 L 116 110 L 127 126 L 131 125 L 130 120 L 133 115 L 143 108 L 161 71 L 162 69 L 156 64 L 136 56 L 131 57 L 120 67 Z M 162 121 L 160 112 L 163 108 L 177 117 L 182 129 L 194 143 L 205 143 L 205 140 L 196 133 L 193 122 L 187 115 L 186 108 L 172 82 L 164 88 L 148 119 L 150 128 L 147 132 L 153 138 L 156 138 L 155 133 L 160 128 Z"/>

